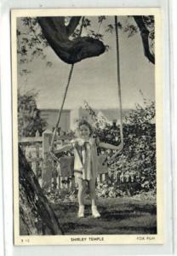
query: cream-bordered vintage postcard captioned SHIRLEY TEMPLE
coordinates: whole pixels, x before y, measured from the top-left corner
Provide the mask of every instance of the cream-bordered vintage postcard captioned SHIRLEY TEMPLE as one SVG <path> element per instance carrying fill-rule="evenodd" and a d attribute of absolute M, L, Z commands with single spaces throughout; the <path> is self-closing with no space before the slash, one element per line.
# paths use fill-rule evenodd
<path fill-rule="evenodd" d="M 163 243 L 161 20 L 11 10 L 14 245 Z"/>

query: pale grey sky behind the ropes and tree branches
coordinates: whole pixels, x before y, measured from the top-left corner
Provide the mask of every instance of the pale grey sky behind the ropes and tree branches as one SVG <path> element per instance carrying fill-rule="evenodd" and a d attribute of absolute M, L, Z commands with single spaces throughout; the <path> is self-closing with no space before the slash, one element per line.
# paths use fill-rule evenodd
<path fill-rule="evenodd" d="M 97 31 L 97 17 L 90 20 Z M 126 16 L 118 17 L 118 21 L 123 24 L 126 20 Z M 83 101 L 87 101 L 92 108 L 118 108 L 116 37 L 115 32 L 105 32 L 106 26 L 113 22 L 113 16 L 107 17 L 100 27 L 100 33 L 104 34 L 104 44 L 108 44 L 110 49 L 98 57 L 74 65 L 65 109 L 79 108 L 83 106 Z M 61 61 L 50 47 L 45 53 L 52 67 L 47 67 L 46 61 L 41 58 L 35 58 L 27 65 L 31 73 L 18 75 L 18 86 L 21 93 L 32 89 L 38 91 L 37 108 L 60 108 L 71 65 Z M 123 108 L 143 104 L 140 90 L 147 99 L 153 101 L 154 65 L 143 53 L 140 33 L 128 38 L 126 32 L 119 30 L 119 53 Z M 22 65 L 19 65 L 19 71 Z"/>

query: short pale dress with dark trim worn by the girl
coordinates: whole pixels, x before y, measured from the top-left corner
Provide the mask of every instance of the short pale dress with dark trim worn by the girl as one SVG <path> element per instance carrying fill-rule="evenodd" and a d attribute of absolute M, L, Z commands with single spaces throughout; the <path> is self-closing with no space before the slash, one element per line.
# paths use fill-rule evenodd
<path fill-rule="evenodd" d="M 98 140 L 92 137 L 88 141 L 77 138 L 71 144 L 74 150 L 74 176 L 83 180 L 95 179 L 98 176 Z"/>

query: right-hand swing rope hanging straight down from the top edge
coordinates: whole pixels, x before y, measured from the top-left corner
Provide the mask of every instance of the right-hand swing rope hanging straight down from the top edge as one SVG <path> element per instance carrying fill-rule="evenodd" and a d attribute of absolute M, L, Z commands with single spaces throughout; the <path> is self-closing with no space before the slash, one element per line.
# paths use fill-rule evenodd
<path fill-rule="evenodd" d="M 117 16 L 115 16 L 115 30 L 116 30 L 116 44 L 117 44 L 117 85 L 118 85 L 118 103 L 120 109 L 120 135 L 121 143 L 123 144 L 123 107 L 122 107 L 122 94 L 121 94 L 121 79 L 120 79 L 120 58 L 119 58 L 119 43 L 118 43 L 118 29 L 117 29 Z M 113 154 L 109 163 L 112 162 L 117 154 Z"/>

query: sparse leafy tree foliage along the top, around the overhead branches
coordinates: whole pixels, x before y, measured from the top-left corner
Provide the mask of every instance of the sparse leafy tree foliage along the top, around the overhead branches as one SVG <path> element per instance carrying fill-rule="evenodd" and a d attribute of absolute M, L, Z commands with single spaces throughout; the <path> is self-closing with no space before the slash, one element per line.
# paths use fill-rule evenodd
<path fill-rule="evenodd" d="M 101 25 L 106 22 L 106 16 L 98 16 L 98 29 L 96 28 L 94 22 L 88 17 L 84 17 L 80 21 L 79 25 L 71 35 L 71 38 L 77 38 L 80 36 L 80 32 L 83 31 L 83 35 L 86 35 L 90 38 L 99 39 L 104 41 L 104 36 L 107 32 L 113 33 L 115 31 L 115 24 L 105 24 L 105 28 L 102 28 L 100 32 Z M 71 17 L 66 16 L 66 24 L 69 22 Z M 113 20 L 112 20 L 113 21 Z M 153 16 L 142 16 L 142 21 L 146 26 L 147 31 L 149 32 L 149 43 L 150 51 L 154 55 L 154 17 Z M 108 23 L 108 22 L 106 22 Z M 134 22 L 134 16 L 128 16 L 125 19 L 125 22 L 117 22 L 118 29 L 128 34 L 128 38 L 134 36 L 137 32 L 140 32 L 140 28 Z M 82 29 L 81 29 L 82 28 Z M 36 17 L 22 17 L 18 19 L 17 25 L 17 53 L 19 55 L 19 63 L 26 64 L 29 61 L 32 61 L 34 57 L 41 57 L 42 60 L 46 59 L 46 54 L 43 49 L 45 49 L 49 44 L 43 36 L 41 27 L 37 23 Z M 109 45 L 106 45 L 106 50 L 110 49 Z M 52 66 L 52 62 L 46 61 L 47 67 Z M 20 71 L 20 75 L 29 73 L 25 67 Z"/>

